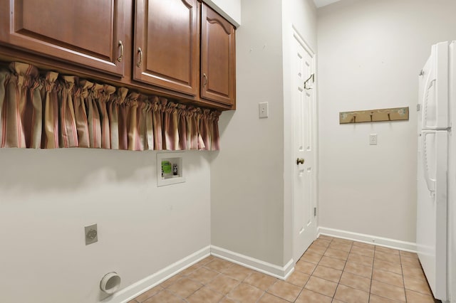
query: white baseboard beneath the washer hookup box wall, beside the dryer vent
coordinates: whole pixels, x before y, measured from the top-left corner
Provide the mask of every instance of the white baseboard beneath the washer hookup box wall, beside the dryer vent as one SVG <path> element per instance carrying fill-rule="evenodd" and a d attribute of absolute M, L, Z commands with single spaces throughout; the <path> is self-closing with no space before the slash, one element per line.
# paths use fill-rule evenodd
<path fill-rule="evenodd" d="M 185 270 L 185 268 L 194 265 L 199 260 L 204 259 L 204 257 L 208 257 L 210 255 L 210 245 L 197 252 L 192 253 L 192 255 L 188 255 L 183 259 L 172 263 L 172 265 L 155 272 L 154 274 L 145 277 L 138 282 L 133 283 L 132 285 L 125 287 L 124 289 L 120 289 L 120 291 L 116 292 L 112 296 L 104 299 L 103 303 L 118 303 L 118 302 L 128 302 L 131 299 L 138 297 L 142 292 L 146 292 L 147 290 L 159 285 L 161 282 L 169 279 L 173 275 Z"/>

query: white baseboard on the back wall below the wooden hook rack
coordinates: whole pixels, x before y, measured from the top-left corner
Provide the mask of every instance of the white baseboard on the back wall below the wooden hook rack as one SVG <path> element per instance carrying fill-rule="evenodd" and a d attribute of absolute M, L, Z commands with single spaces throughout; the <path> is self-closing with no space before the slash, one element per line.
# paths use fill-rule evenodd
<path fill-rule="evenodd" d="M 383 246 L 385 248 L 394 248 L 396 250 L 405 250 L 408 252 L 416 252 L 416 243 L 394 240 L 390 238 L 377 237 L 375 235 L 366 235 L 363 233 L 352 233 L 346 230 L 338 230 L 333 228 L 318 227 L 318 235 L 329 235 L 331 237 L 354 240 L 362 243 Z"/>

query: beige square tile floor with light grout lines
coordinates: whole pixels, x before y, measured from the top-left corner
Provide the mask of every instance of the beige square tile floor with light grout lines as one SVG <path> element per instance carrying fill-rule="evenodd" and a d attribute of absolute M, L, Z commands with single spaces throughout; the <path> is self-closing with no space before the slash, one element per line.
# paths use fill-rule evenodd
<path fill-rule="evenodd" d="M 415 253 L 320 236 L 286 281 L 207 257 L 129 303 L 434 303 Z"/>

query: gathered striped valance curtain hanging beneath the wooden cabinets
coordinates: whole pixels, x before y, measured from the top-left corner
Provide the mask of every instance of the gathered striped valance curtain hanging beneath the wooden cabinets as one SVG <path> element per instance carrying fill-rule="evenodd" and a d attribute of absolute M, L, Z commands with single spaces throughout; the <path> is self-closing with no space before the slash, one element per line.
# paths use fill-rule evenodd
<path fill-rule="evenodd" d="M 219 115 L 26 63 L 0 68 L 0 147 L 219 150 Z"/>

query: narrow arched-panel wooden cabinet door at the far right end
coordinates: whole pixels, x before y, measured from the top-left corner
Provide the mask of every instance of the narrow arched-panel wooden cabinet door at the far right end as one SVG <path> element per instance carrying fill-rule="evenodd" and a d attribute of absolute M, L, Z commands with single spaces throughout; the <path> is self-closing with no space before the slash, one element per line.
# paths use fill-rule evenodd
<path fill-rule="evenodd" d="M 204 4 L 201 18 L 201 97 L 234 105 L 234 26 Z"/>

